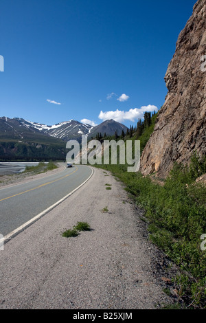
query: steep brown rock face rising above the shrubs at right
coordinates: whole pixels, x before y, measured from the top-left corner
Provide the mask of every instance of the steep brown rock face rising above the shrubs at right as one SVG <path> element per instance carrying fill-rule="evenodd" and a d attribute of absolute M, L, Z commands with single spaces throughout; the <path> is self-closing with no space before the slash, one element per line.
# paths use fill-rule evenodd
<path fill-rule="evenodd" d="M 165 74 L 168 94 L 141 156 L 144 175 L 166 177 L 174 161 L 206 153 L 206 0 L 198 0 L 179 34 Z"/>

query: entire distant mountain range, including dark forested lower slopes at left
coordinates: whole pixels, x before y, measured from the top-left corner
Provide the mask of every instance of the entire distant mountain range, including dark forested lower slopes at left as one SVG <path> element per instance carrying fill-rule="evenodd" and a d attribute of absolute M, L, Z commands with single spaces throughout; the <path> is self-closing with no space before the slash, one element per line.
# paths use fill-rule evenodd
<path fill-rule="evenodd" d="M 98 126 L 76 120 L 48 126 L 23 118 L 0 117 L 0 160 L 65 159 L 65 142 L 81 142 L 82 135 L 87 135 L 88 139 L 98 133 L 114 135 L 117 131 L 121 135 L 122 130 L 126 133 L 127 127 L 114 120 L 106 120 Z"/>

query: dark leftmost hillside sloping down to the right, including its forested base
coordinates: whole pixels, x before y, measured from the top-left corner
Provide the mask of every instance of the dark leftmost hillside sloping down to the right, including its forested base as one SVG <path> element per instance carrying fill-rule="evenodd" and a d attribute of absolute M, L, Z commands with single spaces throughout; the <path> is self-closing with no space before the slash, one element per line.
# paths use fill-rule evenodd
<path fill-rule="evenodd" d="M 65 160 L 65 142 L 20 118 L 0 118 L 0 160 Z"/>

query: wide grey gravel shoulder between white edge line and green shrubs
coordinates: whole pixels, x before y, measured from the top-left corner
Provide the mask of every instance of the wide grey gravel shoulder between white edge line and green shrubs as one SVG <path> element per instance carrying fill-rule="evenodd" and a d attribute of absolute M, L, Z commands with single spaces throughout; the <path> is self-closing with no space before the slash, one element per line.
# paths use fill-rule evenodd
<path fill-rule="evenodd" d="M 170 263 L 148 241 L 141 216 L 122 183 L 94 168 L 82 188 L 0 250 L 0 309 L 159 309 L 171 304 L 173 298 L 163 292 Z M 63 238 L 61 232 L 78 221 L 92 230 Z"/>

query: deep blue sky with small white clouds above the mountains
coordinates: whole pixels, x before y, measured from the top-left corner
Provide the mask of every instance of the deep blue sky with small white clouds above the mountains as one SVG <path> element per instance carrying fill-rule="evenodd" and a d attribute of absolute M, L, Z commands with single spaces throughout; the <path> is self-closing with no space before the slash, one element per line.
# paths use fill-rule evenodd
<path fill-rule="evenodd" d="M 137 124 L 165 101 L 164 76 L 195 3 L 0 0 L 0 116 Z"/>

